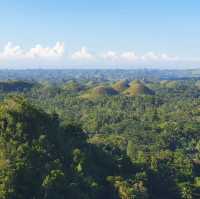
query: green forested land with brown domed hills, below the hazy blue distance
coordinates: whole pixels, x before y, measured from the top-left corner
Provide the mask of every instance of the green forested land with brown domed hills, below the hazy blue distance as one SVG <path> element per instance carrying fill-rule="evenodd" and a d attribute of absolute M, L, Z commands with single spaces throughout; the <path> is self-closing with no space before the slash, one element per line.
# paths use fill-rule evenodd
<path fill-rule="evenodd" d="M 198 79 L 6 83 L 0 198 L 200 198 Z"/>

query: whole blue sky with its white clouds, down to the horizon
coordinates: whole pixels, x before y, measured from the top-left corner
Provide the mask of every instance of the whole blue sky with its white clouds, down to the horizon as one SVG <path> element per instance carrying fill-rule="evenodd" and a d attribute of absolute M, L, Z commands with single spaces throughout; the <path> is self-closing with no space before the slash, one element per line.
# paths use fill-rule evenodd
<path fill-rule="evenodd" d="M 199 0 L 0 0 L 0 68 L 198 68 Z"/>

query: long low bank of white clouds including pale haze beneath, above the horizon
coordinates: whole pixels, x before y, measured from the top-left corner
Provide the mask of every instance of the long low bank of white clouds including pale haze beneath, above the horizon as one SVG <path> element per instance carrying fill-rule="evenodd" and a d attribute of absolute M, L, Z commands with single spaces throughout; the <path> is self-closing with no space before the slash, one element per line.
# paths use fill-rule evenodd
<path fill-rule="evenodd" d="M 68 49 L 70 50 L 70 49 Z M 177 56 L 166 53 L 147 52 L 138 54 L 135 51 L 91 52 L 87 47 L 66 53 L 64 42 L 56 42 L 55 45 L 43 46 L 37 44 L 30 49 L 8 42 L 0 51 L 0 67 L 3 66 L 175 66 L 183 64 Z M 191 62 L 192 63 L 192 62 Z"/>

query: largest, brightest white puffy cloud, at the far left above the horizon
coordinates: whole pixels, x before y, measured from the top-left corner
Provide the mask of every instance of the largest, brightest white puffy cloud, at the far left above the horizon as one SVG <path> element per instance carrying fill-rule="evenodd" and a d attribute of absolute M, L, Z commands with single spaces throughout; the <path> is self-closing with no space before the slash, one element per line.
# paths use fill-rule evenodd
<path fill-rule="evenodd" d="M 43 47 L 37 44 L 35 47 L 25 50 L 21 46 L 8 42 L 0 53 L 0 59 L 30 59 L 30 58 L 57 58 L 64 55 L 64 43 L 57 42 L 53 47 Z"/>

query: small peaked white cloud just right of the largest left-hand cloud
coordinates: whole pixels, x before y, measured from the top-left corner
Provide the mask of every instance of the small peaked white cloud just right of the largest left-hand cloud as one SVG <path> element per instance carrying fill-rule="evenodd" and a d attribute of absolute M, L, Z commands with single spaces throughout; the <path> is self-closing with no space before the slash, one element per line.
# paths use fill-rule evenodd
<path fill-rule="evenodd" d="M 82 47 L 80 50 L 74 52 L 71 58 L 74 60 L 92 60 L 94 59 L 94 55 L 86 47 Z"/>

